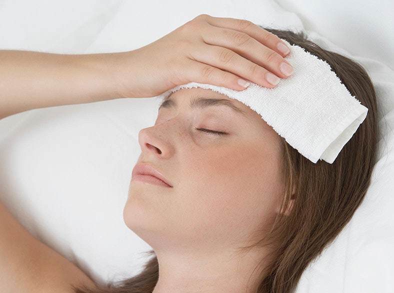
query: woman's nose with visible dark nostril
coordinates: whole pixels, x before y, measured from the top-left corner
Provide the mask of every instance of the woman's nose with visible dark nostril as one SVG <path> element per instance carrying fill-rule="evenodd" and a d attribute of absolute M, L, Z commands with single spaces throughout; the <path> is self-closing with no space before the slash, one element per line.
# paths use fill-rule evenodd
<path fill-rule="evenodd" d="M 166 158 L 173 154 L 173 145 L 168 140 L 168 135 L 159 126 L 151 126 L 139 130 L 138 143 L 142 153 Z"/>

